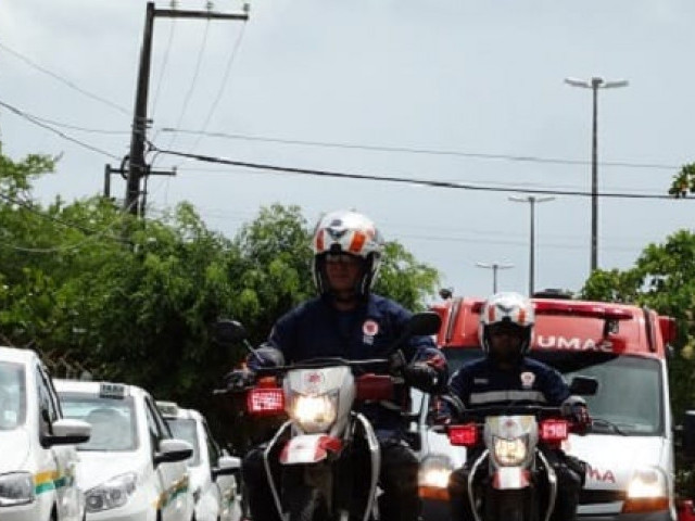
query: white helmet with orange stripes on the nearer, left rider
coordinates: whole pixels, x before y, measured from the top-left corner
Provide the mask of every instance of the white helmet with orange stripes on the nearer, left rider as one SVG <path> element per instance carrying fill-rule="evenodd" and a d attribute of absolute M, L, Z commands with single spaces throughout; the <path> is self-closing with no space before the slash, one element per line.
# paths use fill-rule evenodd
<path fill-rule="evenodd" d="M 363 258 L 363 276 L 355 291 L 362 296 L 369 293 L 377 280 L 383 252 L 383 239 L 371 219 L 350 211 L 326 214 L 314 229 L 312 249 L 314 251 L 312 275 L 319 293 L 330 291 L 324 269 L 326 255 L 329 253 L 342 253 Z"/>

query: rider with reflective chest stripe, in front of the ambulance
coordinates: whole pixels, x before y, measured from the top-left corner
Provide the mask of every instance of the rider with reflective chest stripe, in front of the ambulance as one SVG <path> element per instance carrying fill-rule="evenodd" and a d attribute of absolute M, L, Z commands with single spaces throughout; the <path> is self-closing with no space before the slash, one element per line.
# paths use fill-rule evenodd
<path fill-rule="evenodd" d="M 485 356 L 456 371 L 450 380 L 450 392 L 460 399 L 464 408 L 510 403 L 560 406 L 581 432 L 591 422 L 585 402 L 570 395 L 559 372 L 526 356 L 531 346 L 533 326 L 534 310 L 528 298 L 511 292 L 490 296 L 480 312 L 479 325 Z M 464 467 L 450 476 L 451 508 L 456 520 L 475 519 L 468 497 L 468 478 L 472 462 L 483 448 L 477 449 L 469 449 Z M 585 478 L 585 466 L 561 449 L 546 449 L 544 454 L 557 474 L 558 491 L 561 491 L 551 519 L 572 521 Z"/>

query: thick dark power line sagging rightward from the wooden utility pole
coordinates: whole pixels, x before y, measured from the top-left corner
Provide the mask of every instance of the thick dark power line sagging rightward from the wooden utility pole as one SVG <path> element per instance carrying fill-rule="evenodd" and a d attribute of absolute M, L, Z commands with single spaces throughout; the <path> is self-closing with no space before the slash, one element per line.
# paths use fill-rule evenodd
<path fill-rule="evenodd" d="M 546 189 L 528 189 L 528 188 L 517 188 L 517 187 L 492 187 L 484 185 L 469 185 L 469 183 L 457 183 L 451 181 L 432 181 L 426 179 L 410 179 L 405 177 L 386 177 L 386 176 L 376 176 L 376 175 L 367 175 L 367 174 L 355 174 L 355 173 L 339 173 L 339 171 L 330 171 L 330 170 L 319 170 L 313 168 L 298 168 L 290 166 L 279 166 L 279 165 L 267 165 L 262 163 L 250 163 L 244 161 L 233 161 L 227 160 L 224 157 L 215 157 L 210 155 L 202 154 L 191 154 L 186 152 L 178 152 L 175 150 L 162 150 L 152 145 L 153 150 L 162 154 L 169 154 L 179 157 L 189 157 L 192 160 L 205 162 L 205 163 L 217 163 L 222 165 L 231 165 L 239 166 L 250 169 L 258 169 L 274 173 L 285 173 L 285 174 L 295 174 L 295 175 L 304 175 L 304 176 L 314 176 L 314 177 L 324 177 L 324 178 L 334 178 L 334 179 L 358 179 L 366 181 L 384 181 L 384 182 L 395 182 L 403 185 L 413 185 L 413 186 L 421 186 L 421 187 L 430 187 L 430 188 L 451 188 L 457 190 L 471 190 L 471 191 L 486 191 L 486 192 L 507 192 L 507 193 L 536 193 L 536 194 L 548 194 L 548 195 L 568 195 L 568 196 L 583 196 L 591 198 L 591 192 L 584 192 L 579 190 L 546 190 Z M 599 193 L 598 196 L 602 198 L 610 198 L 610 199 L 640 199 L 640 200 L 673 200 L 672 195 L 668 194 L 644 194 L 644 193 L 619 193 L 619 192 L 604 192 Z"/>

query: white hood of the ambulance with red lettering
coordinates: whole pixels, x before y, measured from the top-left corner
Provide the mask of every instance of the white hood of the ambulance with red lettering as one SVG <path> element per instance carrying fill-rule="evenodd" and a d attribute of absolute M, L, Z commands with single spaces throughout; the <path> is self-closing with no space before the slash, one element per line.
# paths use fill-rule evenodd
<path fill-rule="evenodd" d="M 572 435 L 564 445 L 568 454 L 587 463 L 586 488 L 602 490 L 624 488 L 637 468 L 662 467 L 666 447 L 659 436 L 601 434 Z"/>

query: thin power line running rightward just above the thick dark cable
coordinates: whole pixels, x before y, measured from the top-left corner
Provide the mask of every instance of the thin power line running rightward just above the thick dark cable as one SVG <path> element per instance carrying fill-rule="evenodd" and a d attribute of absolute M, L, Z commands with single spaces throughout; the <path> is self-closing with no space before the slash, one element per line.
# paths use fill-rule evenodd
<path fill-rule="evenodd" d="M 424 149 L 413 147 L 384 147 L 384 145 L 371 145 L 361 143 L 346 143 L 338 141 L 313 141 L 301 139 L 283 139 L 266 136 L 249 136 L 244 134 L 228 134 L 219 131 L 203 131 L 203 130 L 187 130 L 178 127 L 164 127 L 162 132 L 175 132 L 175 134 L 189 134 L 189 135 L 202 135 L 211 138 L 224 138 L 224 139 L 237 139 L 242 141 L 258 141 L 268 143 L 292 144 L 292 145 L 305 145 L 305 147 L 320 147 L 330 149 L 350 149 L 350 150 L 367 150 L 374 152 L 402 152 L 408 154 L 422 154 L 422 155 L 448 155 L 457 157 L 469 157 L 477 160 L 497 160 L 497 161 L 513 161 L 522 163 L 544 163 L 555 165 L 591 165 L 591 161 L 585 160 L 571 160 L 564 157 L 542 157 L 538 155 L 514 155 L 514 154 L 491 154 L 483 152 L 464 152 L 459 150 L 437 150 L 437 149 Z M 602 166 L 615 166 L 626 168 L 652 168 L 662 170 L 673 170 L 681 168 L 682 165 L 667 165 L 660 163 L 635 163 L 635 162 L 601 162 Z"/>

